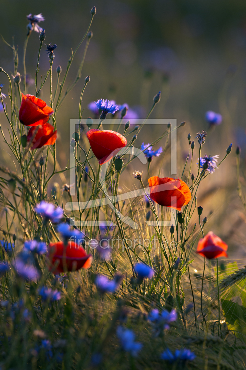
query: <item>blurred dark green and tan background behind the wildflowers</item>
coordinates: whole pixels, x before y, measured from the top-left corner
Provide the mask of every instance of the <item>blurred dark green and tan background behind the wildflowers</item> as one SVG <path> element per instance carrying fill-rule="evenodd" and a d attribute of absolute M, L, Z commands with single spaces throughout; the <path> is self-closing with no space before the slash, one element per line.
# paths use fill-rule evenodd
<path fill-rule="evenodd" d="M 232 154 L 221 167 L 204 181 L 198 193 L 198 204 L 204 207 L 203 215 L 210 215 L 207 230 L 218 233 L 228 244 L 232 258 L 245 259 L 245 215 L 236 194 L 235 148 L 242 148 L 242 170 L 246 155 L 246 2 L 242 0 L 131 0 L 131 1 L 1 1 L 0 29 L 9 43 L 14 36 L 19 46 L 23 74 L 22 48 L 29 13 L 42 13 L 45 21 L 45 43 L 56 43 L 54 67 L 66 69 L 71 48 L 76 48 L 90 19 L 90 9 L 96 6 L 91 30 L 93 38 L 86 55 L 82 78 L 70 92 L 59 111 L 59 163 L 62 168 L 69 158 L 69 119 L 78 117 L 79 96 L 84 78 L 90 83 L 83 96 L 83 117 L 91 115 L 87 105 L 97 98 L 114 99 L 117 104 L 127 102 L 143 118 L 152 105 L 153 96 L 160 90 L 162 98 L 151 118 L 177 118 L 186 121 L 178 132 L 178 169 L 183 168 L 188 153 L 187 134 L 194 139 L 196 132 L 207 130 L 205 112 L 213 110 L 223 116 L 223 122 L 208 132 L 203 155 L 219 154 L 222 159 L 232 142 Z M 27 73 L 35 77 L 38 34 L 32 32 L 28 41 Z M 73 82 L 84 44 L 76 54 L 67 83 Z M 11 50 L 0 40 L 0 65 L 13 73 Z M 40 56 L 40 73 L 49 68 L 48 55 L 43 47 Z M 0 76 L 1 79 L 3 78 Z M 55 83 L 55 73 L 53 73 Z M 6 80 L 1 83 L 7 85 Z M 40 83 L 40 76 L 39 76 Z M 42 99 L 49 101 L 48 84 Z M 54 90 L 54 88 L 53 88 Z M 6 90 L 3 92 L 7 93 Z M 34 86 L 29 87 L 34 94 Z M 2 125 L 7 125 L 0 114 Z M 147 132 L 148 130 L 146 130 Z M 149 131 L 148 131 L 149 132 Z M 158 137 L 159 133 L 154 132 Z M 138 144 L 149 136 L 142 132 Z M 195 158 L 198 144 L 195 140 Z M 3 148 L 5 148 L 3 146 Z M 168 153 L 167 153 L 168 154 Z M 1 153 L 7 164 L 9 157 Z M 152 164 L 152 175 L 159 159 Z M 170 157 L 162 175 L 170 175 Z M 197 165 L 193 164 L 193 172 Z M 188 162 L 189 163 L 189 162 Z M 130 166 L 129 173 L 132 171 Z M 159 170 L 159 168 L 158 168 Z M 146 177 L 147 178 L 147 177 Z M 245 181 L 245 178 L 242 178 Z"/>

